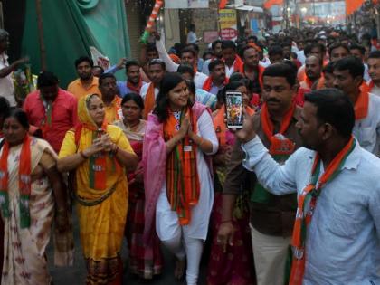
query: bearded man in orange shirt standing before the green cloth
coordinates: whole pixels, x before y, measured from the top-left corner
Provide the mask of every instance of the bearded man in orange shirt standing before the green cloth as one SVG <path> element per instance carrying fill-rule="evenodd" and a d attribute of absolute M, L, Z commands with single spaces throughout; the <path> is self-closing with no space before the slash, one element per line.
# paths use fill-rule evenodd
<path fill-rule="evenodd" d="M 99 94 L 98 78 L 92 75 L 93 62 L 88 56 L 81 56 L 75 61 L 75 69 L 79 78 L 72 81 L 67 90 L 71 92 L 77 100 L 88 94 Z"/>

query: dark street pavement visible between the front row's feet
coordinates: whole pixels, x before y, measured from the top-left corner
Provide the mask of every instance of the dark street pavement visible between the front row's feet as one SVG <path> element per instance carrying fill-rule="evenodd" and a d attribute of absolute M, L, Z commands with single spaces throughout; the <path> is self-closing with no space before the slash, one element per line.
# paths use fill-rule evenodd
<path fill-rule="evenodd" d="M 74 211 L 75 212 L 75 211 Z M 54 285 L 81 285 L 84 284 L 86 278 L 86 268 L 81 255 L 81 242 L 79 236 L 79 224 L 76 218 L 76 214 L 73 214 L 73 227 L 74 227 L 74 242 L 75 242 L 75 255 L 74 255 L 74 265 L 72 267 L 55 267 L 53 264 L 53 249 L 52 242 L 47 249 L 47 256 L 49 262 L 49 270 L 52 275 L 52 280 Z M 176 281 L 174 278 L 174 257 L 163 248 L 164 252 L 164 271 L 163 274 L 154 280 L 149 280 L 146 282 L 141 282 L 138 278 L 132 276 L 128 272 L 128 250 L 127 242 L 123 242 L 123 249 L 121 252 L 121 257 L 124 263 L 124 276 L 123 284 L 128 285 L 141 285 L 141 284 L 151 284 L 151 285 L 185 285 L 185 281 Z M 205 285 L 205 264 L 203 261 L 201 264 L 201 273 L 198 285 Z"/>

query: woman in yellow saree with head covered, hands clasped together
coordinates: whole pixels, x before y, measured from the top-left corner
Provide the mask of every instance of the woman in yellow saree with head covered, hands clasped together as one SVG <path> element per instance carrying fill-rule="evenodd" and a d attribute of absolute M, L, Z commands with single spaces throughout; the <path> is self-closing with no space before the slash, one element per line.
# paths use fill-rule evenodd
<path fill-rule="evenodd" d="M 58 169 L 75 169 L 86 284 L 121 284 L 119 252 L 128 211 L 126 168 L 136 167 L 138 157 L 123 131 L 105 122 L 98 95 L 79 101 L 78 117 L 81 124 L 63 140 Z"/>

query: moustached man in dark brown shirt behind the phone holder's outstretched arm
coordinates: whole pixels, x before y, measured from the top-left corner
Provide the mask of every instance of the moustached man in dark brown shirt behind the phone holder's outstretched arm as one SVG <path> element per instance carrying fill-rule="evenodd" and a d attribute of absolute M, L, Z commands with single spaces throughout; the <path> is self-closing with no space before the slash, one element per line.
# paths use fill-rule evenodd
<path fill-rule="evenodd" d="M 296 77 L 296 72 L 286 63 L 269 66 L 263 72 L 264 104 L 253 117 L 254 130 L 280 164 L 300 147 L 296 129 L 300 108 L 293 100 L 297 94 Z M 244 169 L 243 158 L 242 147 L 237 143 L 233 147 L 223 188 L 223 217 L 218 242 L 223 247 L 233 244 L 233 206 L 242 185 L 248 185 L 252 189 L 250 226 L 257 284 L 282 285 L 297 195 L 271 195 Z"/>

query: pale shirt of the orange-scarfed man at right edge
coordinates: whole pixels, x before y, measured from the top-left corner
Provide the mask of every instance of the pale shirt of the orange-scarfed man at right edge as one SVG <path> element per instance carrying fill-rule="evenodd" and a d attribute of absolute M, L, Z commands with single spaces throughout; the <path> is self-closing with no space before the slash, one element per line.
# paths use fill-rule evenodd
<path fill-rule="evenodd" d="M 374 155 L 380 153 L 380 97 L 369 93 L 368 115 L 355 121 L 353 133 L 360 146 Z"/>

